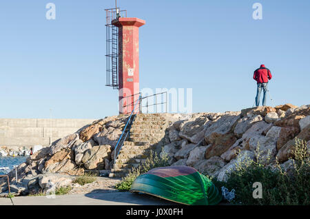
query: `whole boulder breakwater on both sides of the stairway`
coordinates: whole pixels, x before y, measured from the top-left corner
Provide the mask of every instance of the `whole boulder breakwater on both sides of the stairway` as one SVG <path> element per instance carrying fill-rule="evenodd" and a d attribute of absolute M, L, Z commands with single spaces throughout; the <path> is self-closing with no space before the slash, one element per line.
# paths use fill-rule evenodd
<path fill-rule="evenodd" d="M 238 162 L 255 160 L 258 147 L 267 165 L 274 165 L 277 158 L 288 167 L 295 139 L 305 140 L 309 146 L 310 105 L 166 116 L 167 127 L 161 139 L 165 144 L 156 151 L 167 155 L 171 165 L 188 165 L 218 180 L 225 180 Z M 34 194 L 46 191 L 50 183 L 56 187 L 70 185 L 72 176 L 81 176 L 85 171 L 110 171 L 114 147 L 127 118 L 110 116 L 95 121 L 32 154 L 17 167 L 19 183 L 13 185 L 12 191 Z M 9 176 L 14 183 L 15 171 Z M 7 190 L 2 179 L 0 193 Z"/>

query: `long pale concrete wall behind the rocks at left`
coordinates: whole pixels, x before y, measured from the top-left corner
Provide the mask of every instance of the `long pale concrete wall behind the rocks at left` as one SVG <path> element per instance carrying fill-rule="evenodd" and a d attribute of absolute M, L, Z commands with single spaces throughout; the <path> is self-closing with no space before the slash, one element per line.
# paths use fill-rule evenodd
<path fill-rule="evenodd" d="M 95 119 L 0 118 L 0 146 L 48 146 Z"/>

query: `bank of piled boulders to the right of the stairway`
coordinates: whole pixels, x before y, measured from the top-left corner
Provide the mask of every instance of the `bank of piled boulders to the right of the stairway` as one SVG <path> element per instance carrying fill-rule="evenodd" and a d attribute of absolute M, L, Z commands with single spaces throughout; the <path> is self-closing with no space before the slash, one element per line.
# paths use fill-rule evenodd
<path fill-rule="evenodd" d="M 310 105 L 254 107 L 241 112 L 200 113 L 170 123 L 170 143 L 163 147 L 171 165 L 187 165 L 218 180 L 236 169 L 237 162 L 260 159 L 283 167 L 293 158 L 295 139 L 310 148 Z M 258 148 L 259 147 L 259 148 Z"/>

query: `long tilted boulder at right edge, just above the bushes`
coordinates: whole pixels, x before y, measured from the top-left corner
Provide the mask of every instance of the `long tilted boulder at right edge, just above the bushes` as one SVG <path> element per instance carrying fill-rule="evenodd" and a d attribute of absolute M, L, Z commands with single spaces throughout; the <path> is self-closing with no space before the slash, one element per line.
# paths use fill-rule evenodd
<path fill-rule="evenodd" d="M 298 134 L 295 138 L 292 140 L 289 140 L 285 145 L 283 145 L 276 156 L 276 158 L 279 160 L 280 163 L 285 162 L 286 160 L 289 160 L 289 158 L 293 157 L 293 149 L 296 145 L 296 138 L 305 140 L 306 142 L 310 140 L 310 125 L 305 127 L 300 134 Z"/>

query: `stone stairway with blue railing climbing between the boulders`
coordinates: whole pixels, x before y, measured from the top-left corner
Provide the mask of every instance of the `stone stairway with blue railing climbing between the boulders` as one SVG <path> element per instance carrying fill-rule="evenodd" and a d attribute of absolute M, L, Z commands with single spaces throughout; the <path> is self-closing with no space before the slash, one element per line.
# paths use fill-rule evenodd
<path fill-rule="evenodd" d="M 145 162 L 152 149 L 165 136 L 165 114 L 137 114 L 109 177 L 124 177 L 132 167 Z"/>

